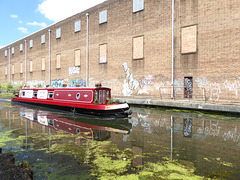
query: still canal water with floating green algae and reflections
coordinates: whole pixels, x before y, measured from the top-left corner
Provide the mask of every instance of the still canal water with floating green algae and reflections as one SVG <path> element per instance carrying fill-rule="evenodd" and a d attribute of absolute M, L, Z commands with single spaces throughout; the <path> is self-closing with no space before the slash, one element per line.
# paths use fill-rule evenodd
<path fill-rule="evenodd" d="M 127 119 L 0 101 L 0 146 L 34 179 L 237 179 L 240 118 L 131 107 Z"/>

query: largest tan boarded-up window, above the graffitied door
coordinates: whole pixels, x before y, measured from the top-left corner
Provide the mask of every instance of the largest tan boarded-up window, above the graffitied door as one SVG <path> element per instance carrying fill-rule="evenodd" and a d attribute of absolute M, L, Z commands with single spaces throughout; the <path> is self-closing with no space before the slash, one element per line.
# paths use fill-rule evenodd
<path fill-rule="evenodd" d="M 189 26 L 182 28 L 181 53 L 196 53 L 197 52 L 197 26 Z"/>

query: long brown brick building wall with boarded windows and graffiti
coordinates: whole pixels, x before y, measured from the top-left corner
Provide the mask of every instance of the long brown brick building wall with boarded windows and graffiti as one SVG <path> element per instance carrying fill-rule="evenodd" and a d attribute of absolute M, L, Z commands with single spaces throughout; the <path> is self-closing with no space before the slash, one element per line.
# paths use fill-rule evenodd
<path fill-rule="evenodd" d="M 115 95 L 158 95 L 172 81 L 171 3 L 108 0 L 9 44 L 0 51 L 0 82 L 85 85 L 89 79 Z M 239 99 L 239 10 L 236 0 L 175 0 L 174 79 L 185 97 L 205 88 L 209 99 Z M 183 95 L 182 89 L 176 92 Z"/>

